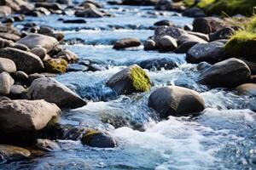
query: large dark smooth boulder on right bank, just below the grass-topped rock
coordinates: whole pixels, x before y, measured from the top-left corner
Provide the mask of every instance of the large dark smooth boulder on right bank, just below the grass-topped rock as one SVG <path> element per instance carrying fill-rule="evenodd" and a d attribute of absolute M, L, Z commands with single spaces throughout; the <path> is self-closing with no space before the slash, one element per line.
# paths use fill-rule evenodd
<path fill-rule="evenodd" d="M 232 88 L 248 82 L 251 77 L 249 67 L 241 59 L 225 59 L 203 71 L 199 77 L 201 84 L 212 88 Z"/>

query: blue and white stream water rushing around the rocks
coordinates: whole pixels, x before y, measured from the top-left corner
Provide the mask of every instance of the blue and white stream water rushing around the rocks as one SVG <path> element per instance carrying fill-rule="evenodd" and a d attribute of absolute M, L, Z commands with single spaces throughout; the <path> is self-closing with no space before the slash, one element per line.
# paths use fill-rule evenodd
<path fill-rule="evenodd" d="M 76 3 L 76 2 L 75 2 Z M 77 2 L 78 3 L 78 2 Z M 154 34 L 158 20 L 172 20 L 177 26 L 193 19 L 172 12 L 154 11 L 153 7 L 110 6 L 104 9 L 115 17 L 86 19 L 86 24 L 63 24 L 68 16 L 27 17 L 25 22 L 52 26 L 65 33 L 65 48 L 80 59 L 108 67 L 106 71 L 69 72 L 56 79 L 85 99 L 88 105 L 63 111 L 62 124 L 96 127 L 118 140 L 114 149 L 96 149 L 79 141 L 59 140 L 61 151 L 43 157 L 2 164 L 0 169 L 255 169 L 256 111 L 255 98 L 239 96 L 224 88 L 208 89 L 196 83 L 197 65 L 187 64 L 184 54 L 147 52 L 143 47 L 114 50 L 121 37 L 146 40 Z M 18 27 L 22 28 L 22 23 Z M 195 89 L 204 97 L 207 109 L 196 117 L 172 117 L 161 121 L 148 108 L 151 94 L 116 96 L 104 85 L 114 73 L 143 59 L 173 59 L 178 67 L 171 71 L 148 71 L 154 87 L 178 85 Z"/>

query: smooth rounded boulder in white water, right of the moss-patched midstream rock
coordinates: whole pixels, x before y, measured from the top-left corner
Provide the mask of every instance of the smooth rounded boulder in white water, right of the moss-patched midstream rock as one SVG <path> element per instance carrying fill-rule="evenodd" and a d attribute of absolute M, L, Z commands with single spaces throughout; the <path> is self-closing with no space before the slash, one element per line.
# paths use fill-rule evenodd
<path fill-rule="evenodd" d="M 205 109 L 204 99 L 199 93 L 177 86 L 154 90 L 149 96 L 148 106 L 158 111 L 161 118 L 193 115 Z"/>

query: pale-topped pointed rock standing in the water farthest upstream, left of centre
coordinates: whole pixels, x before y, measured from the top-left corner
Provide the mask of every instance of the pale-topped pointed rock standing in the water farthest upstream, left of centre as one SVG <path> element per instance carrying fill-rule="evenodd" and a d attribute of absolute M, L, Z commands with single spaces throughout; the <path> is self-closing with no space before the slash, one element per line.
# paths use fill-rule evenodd
<path fill-rule="evenodd" d="M 86 8 L 84 10 L 78 10 L 75 12 L 77 17 L 85 17 L 85 18 L 101 18 L 106 16 L 107 14 L 98 10 L 97 8 Z"/>

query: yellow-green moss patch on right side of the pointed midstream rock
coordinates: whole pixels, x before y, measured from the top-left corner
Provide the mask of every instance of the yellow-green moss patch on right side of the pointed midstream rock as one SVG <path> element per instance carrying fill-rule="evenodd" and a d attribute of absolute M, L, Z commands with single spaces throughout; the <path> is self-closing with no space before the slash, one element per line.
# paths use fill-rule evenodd
<path fill-rule="evenodd" d="M 150 77 L 139 66 L 131 67 L 132 86 L 137 92 L 148 92 L 151 88 Z"/>

